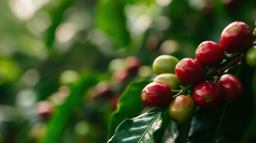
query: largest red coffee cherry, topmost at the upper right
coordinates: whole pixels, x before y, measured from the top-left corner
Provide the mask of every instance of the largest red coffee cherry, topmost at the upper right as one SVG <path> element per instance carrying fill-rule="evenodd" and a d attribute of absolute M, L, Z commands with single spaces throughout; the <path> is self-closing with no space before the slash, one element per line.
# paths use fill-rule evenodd
<path fill-rule="evenodd" d="M 252 46 L 254 35 L 246 23 L 235 21 L 230 23 L 221 33 L 220 45 L 229 53 L 245 51 Z"/>

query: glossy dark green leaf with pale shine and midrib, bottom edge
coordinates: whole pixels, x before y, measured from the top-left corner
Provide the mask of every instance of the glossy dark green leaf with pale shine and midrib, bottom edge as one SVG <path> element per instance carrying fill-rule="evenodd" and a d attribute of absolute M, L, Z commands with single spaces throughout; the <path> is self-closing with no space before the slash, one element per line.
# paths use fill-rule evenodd
<path fill-rule="evenodd" d="M 116 129 L 110 142 L 155 142 L 154 132 L 161 128 L 164 108 L 153 108 L 133 119 L 126 119 Z"/>

